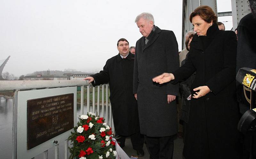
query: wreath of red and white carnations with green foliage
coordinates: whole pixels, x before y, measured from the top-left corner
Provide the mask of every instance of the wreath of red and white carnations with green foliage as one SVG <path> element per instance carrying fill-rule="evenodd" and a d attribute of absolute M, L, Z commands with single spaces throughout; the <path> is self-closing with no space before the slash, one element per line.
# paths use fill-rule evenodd
<path fill-rule="evenodd" d="M 116 158 L 114 135 L 104 120 L 91 112 L 79 117 L 74 132 L 68 137 L 72 141 L 72 147 L 68 148 L 71 153 L 69 159 Z"/>

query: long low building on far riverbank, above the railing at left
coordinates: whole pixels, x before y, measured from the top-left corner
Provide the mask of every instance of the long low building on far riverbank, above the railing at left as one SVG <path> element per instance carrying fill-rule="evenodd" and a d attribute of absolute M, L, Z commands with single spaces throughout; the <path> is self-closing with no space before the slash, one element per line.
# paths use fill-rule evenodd
<path fill-rule="evenodd" d="M 31 75 L 31 76 L 25 76 L 24 80 L 68 80 L 68 76 L 61 76 L 61 75 L 53 75 L 53 74 L 47 74 L 47 75 Z"/>

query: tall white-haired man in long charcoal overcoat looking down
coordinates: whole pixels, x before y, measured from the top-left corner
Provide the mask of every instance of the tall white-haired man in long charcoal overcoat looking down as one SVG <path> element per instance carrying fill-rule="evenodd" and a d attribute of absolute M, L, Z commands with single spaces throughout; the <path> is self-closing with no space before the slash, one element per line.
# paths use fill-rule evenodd
<path fill-rule="evenodd" d="M 150 159 L 172 158 L 173 135 L 177 133 L 179 84 L 158 85 L 152 78 L 179 68 L 178 43 L 172 31 L 154 25 L 150 13 L 135 19 L 143 35 L 136 42 L 133 93 L 138 99 L 140 132 L 145 134 Z"/>

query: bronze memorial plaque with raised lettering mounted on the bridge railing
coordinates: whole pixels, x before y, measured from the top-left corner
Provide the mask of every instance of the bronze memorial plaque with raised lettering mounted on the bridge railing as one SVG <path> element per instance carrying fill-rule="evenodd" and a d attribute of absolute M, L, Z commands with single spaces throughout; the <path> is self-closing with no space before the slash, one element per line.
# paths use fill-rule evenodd
<path fill-rule="evenodd" d="M 74 127 L 74 94 L 27 101 L 27 149 Z"/>

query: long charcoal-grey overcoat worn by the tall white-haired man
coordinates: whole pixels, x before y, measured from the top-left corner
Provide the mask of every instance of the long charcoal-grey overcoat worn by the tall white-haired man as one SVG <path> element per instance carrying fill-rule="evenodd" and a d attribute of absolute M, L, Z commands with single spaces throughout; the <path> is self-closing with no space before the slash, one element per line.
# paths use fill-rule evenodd
<path fill-rule="evenodd" d="M 176 102 L 167 103 L 167 95 L 178 95 L 179 85 L 156 84 L 152 78 L 179 68 L 178 43 L 172 31 L 151 32 L 148 43 L 136 42 L 133 93 L 137 93 L 140 133 L 164 137 L 177 133 Z"/>

